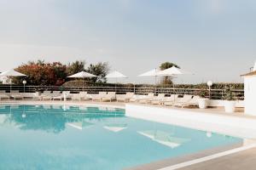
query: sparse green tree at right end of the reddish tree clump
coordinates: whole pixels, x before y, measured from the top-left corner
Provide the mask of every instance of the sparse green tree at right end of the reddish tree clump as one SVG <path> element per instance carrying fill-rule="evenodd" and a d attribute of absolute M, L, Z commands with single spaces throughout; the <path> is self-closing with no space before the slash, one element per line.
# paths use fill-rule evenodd
<path fill-rule="evenodd" d="M 105 77 L 108 74 L 109 65 L 106 62 L 99 62 L 96 65 L 90 64 L 86 71 L 90 74 L 97 76 L 90 78 L 90 82 L 107 82 L 107 79 Z"/>

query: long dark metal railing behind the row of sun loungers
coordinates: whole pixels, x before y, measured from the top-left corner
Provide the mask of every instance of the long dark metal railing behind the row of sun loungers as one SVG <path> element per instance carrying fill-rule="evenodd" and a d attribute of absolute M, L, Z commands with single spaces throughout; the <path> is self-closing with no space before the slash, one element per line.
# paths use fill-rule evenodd
<path fill-rule="evenodd" d="M 89 94 L 98 94 L 101 91 L 105 92 L 116 92 L 117 94 L 125 94 L 127 92 L 133 92 L 135 94 L 145 95 L 148 93 L 154 94 L 189 94 L 195 95 L 198 94 L 201 89 L 198 88 L 137 88 L 134 87 L 61 87 L 61 86 L 9 86 L 9 85 L 0 85 L 0 91 L 6 91 L 7 93 L 11 90 L 18 90 L 20 93 L 35 93 L 35 92 L 43 92 L 45 90 L 49 91 L 70 91 L 72 94 L 77 94 L 80 91 L 86 91 Z M 211 93 L 209 90 L 205 90 L 207 92 L 207 97 L 211 94 L 211 99 L 222 99 L 226 94 L 224 89 L 211 89 Z M 232 90 L 232 94 L 236 99 L 244 99 L 244 91 L 243 90 Z"/>

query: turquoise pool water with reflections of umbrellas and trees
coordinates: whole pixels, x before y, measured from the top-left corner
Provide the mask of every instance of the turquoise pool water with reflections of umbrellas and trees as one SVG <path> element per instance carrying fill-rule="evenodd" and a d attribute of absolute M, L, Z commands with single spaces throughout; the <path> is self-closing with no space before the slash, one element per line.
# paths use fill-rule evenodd
<path fill-rule="evenodd" d="M 0 169 L 115 170 L 241 139 L 125 116 L 125 110 L 0 105 Z"/>

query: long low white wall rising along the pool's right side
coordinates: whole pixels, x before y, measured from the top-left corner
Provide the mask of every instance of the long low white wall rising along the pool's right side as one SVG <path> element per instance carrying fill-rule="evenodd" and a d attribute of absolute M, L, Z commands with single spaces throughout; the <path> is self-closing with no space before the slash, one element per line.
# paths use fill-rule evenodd
<path fill-rule="evenodd" d="M 256 139 L 256 118 L 135 104 L 126 104 L 125 110 L 126 116 L 143 120 Z"/>

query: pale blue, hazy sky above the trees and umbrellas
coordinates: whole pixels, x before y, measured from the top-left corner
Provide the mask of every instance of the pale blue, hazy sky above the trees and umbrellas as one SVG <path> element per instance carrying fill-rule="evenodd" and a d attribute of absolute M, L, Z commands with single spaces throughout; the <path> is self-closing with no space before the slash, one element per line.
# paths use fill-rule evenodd
<path fill-rule="evenodd" d="M 255 17 L 254 0 L 0 0 L 0 71 L 82 59 L 154 82 L 137 75 L 170 61 L 195 73 L 176 82 L 241 82 L 256 60 Z"/>

